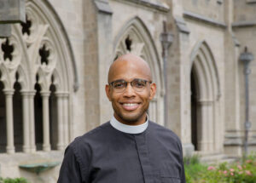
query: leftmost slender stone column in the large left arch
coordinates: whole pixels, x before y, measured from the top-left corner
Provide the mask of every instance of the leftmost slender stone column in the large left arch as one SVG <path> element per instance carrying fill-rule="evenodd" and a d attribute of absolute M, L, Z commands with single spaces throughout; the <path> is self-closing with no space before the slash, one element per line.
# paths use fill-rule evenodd
<path fill-rule="evenodd" d="M 13 94 L 14 89 L 3 90 L 6 100 L 6 125 L 7 125 L 7 153 L 15 153 L 14 140 L 14 112 L 13 112 Z"/>

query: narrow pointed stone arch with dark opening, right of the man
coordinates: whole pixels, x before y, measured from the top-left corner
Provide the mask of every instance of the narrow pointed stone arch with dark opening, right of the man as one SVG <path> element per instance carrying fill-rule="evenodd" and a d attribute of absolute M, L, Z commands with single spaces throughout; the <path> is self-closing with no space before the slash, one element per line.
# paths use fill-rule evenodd
<path fill-rule="evenodd" d="M 194 84 L 193 86 L 191 85 L 191 96 L 193 97 L 193 93 L 196 93 L 195 104 L 193 104 L 193 99 L 191 99 L 192 130 L 195 129 L 193 125 L 196 126 L 192 134 L 197 133 L 197 150 L 210 152 L 216 150 L 218 146 L 216 142 L 218 131 L 216 128 L 218 123 L 220 123 L 218 67 L 206 41 L 201 41 L 195 45 L 190 55 L 190 61 L 191 84 Z M 196 112 L 194 111 L 194 113 L 193 107 L 196 107 Z"/>

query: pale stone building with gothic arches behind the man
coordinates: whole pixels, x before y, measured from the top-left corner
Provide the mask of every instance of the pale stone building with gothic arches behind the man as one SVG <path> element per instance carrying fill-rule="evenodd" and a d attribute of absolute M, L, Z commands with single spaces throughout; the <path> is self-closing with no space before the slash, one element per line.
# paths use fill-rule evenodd
<path fill-rule="evenodd" d="M 255 0 L 26 0 L 26 23 L 0 39 L 0 176 L 55 182 L 67 144 L 113 115 L 104 87 L 125 53 L 148 61 L 158 88 L 148 115 L 185 155 L 241 156 L 239 58 L 245 47 L 256 55 L 255 13 Z M 255 151 L 256 60 L 250 69 Z M 43 164 L 52 169 L 31 172 Z"/>

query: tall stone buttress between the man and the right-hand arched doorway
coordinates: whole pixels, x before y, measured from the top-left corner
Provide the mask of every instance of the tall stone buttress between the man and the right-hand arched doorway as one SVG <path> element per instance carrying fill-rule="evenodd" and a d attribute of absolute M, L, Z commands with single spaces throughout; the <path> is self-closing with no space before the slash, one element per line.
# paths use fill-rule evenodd
<path fill-rule="evenodd" d="M 183 142 L 183 155 L 191 156 L 195 146 L 191 140 L 191 63 L 189 49 L 189 27 L 183 20 L 182 1 L 173 2 L 176 28 L 174 42 L 167 62 L 168 119 L 166 126 L 179 135 Z M 175 87 L 173 87 L 175 86 Z"/>

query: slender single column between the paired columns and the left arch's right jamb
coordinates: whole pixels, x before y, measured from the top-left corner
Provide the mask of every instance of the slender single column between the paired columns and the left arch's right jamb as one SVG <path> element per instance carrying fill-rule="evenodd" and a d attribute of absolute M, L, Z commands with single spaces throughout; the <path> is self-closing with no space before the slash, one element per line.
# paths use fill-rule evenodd
<path fill-rule="evenodd" d="M 41 92 L 43 98 L 43 131 L 44 131 L 44 152 L 50 151 L 49 144 L 49 91 Z"/>

